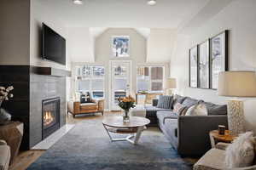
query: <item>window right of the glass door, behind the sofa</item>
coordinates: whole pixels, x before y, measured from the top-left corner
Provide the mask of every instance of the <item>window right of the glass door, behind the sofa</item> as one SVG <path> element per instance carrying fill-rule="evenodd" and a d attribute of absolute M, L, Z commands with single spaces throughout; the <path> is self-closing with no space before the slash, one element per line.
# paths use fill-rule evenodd
<path fill-rule="evenodd" d="M 137 91 L 162 92 L 164 66 L 137 66 Z"/>

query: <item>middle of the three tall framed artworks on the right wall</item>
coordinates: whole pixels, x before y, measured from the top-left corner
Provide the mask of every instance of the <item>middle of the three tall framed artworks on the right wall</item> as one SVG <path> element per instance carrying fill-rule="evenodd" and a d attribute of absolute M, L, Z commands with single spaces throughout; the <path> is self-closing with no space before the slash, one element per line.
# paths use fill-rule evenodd
<path fill-rule="evenodd" d="M 210 88 L 209 40 L 198 45 L 198 88 Z"/>

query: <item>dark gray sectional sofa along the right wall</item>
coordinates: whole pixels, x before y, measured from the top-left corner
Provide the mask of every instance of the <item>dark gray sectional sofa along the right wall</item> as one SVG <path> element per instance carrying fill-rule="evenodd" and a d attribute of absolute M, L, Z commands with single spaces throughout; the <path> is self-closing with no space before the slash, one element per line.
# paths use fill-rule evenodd
<path fill-rule="evenodd" d="M 175 102 L 188 108 L 203 102 L 207 106 L 208 116 L 178 116 L 170 109 L 157 107 L 157 99 L 152 106 L 146 106 L 146 117 L 151 125 L 158 123 L 166 139 L 181 156 L 202 156 L 211 149 L 209 132 L 217 129 L 218 125 L 228 127 L 227 106 L 215 105 L 203 100 L 176 95 Z"/>

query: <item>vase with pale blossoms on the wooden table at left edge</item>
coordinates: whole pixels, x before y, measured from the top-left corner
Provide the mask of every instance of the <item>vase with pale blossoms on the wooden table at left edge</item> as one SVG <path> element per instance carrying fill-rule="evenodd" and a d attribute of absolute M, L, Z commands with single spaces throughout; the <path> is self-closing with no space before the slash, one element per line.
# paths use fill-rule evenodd
<path fill-rule="evenodd" d="M 9 94 L 14 87 L 9 86 L 8 88 L 0 87 L 0 125 L 7 124 L 11 120 L 11 115 L 1 108 L 4 100 L 9 100 L 9 98 L 13 98 L 14 94 Z"/>

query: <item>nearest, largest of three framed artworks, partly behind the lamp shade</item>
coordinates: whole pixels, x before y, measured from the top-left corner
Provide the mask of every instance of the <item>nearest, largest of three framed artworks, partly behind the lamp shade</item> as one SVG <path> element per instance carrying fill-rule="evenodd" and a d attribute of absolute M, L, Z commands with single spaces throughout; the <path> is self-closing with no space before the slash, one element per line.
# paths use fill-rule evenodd
<path fill-rule="evenodd" d="M 228 71 L 228 34 L 223 31 L 210 39 L 211 88 L 218 88 L 218 74 Z"/>

